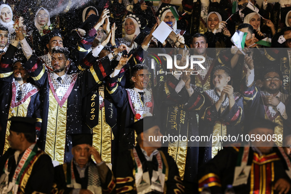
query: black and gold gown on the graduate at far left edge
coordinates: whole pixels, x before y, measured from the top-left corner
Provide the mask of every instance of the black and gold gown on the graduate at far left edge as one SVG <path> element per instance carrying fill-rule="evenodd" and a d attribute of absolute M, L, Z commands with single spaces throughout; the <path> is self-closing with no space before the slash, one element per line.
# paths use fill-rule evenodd
<path fill-rule="evenodd" d="M 41 127 L 41 113 L 39 89 L 30 84 L 30 89 L 27 95 L 19 102 L 16 99 L 16 86 L 13 75 L 13 58 L 17 48 L 9 45 L 6 54 L 2 56 L 0 61 L 0 156 L 3 151 L 6 151 L 10 146 L 7 141 L 9 135 L 10 121 L 7 121 L 12 116 L 16 117 L 33 117 L 37 119 L 36 129 Z"/>

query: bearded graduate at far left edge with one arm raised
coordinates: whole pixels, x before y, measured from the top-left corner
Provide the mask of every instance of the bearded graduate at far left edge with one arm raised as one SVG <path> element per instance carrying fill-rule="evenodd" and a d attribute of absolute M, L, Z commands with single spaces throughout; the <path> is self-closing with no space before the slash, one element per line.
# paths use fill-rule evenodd
<path fill-rule="evenodd" d="M 1 32 L 0 32 L 1 33 Z M 10 146 L 7 141 L 9 136 L 10 121 L 12 116 L 37 118 L 36 129 L 40 130 L 40 101 L 39 89 L 28 83 L 30 75 L 23 67 L 23 61 L 13 63 L 19 40 L 13 41 L 0 61 L 0 155 Z M 39 134 L 37 134 L 39 135 Z"/>

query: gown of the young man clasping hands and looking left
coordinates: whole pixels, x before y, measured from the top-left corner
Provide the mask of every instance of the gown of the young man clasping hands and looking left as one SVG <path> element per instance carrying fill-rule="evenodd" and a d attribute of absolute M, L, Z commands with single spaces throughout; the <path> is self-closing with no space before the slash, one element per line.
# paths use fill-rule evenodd
<path fill-rule="evenodd" d="M 214 90 L 208 90 L 203 93 L 203 96 L 205 97 L 205 103 L 200 114 L 201 122 L 199 122 L 201 135 L 207 135 L 209 137 L 211 134 L 212 136 L 237 136 L 238 134 L 242 134 L 240 122 L 244 120 L 244 107 L 243 97 L 239 93 L 233 93 L 235 103 L 231 110 L 229 110 L 228 97 L 226 97 L 220 109 L 217 111 L 215 103 L 218 101 L 219 96 L 216 92 Z M 240 140 L 237 141 L 239 142 Z M 212 152 L 208 150 L 204 160 L 210 160 L 211 155 L 213 158 L 218 150 L 222 149 L 222 146 L 229 144 L 229 142 L 223 143 L 218 141 L 212 143 L 212 140 L 208 143 L 205 142 L 205 146 L 212 146 Z"/>

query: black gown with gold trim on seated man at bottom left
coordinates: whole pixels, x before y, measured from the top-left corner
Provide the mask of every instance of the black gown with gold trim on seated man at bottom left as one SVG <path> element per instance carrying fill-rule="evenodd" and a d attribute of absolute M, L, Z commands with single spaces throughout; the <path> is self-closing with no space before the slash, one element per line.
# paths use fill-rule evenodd
<path fill-rule="evenodd" d="M 8 175 L 9 181 L 12 181 L 15 169 L 17 167 L 14 158 L 16 150 L 9 148 L 5 154 L 0 157 L 0 169 L 1 176 L 4 173 L 4 166 L 8 159 L 8 169 L 10 173 Z M 28 165 L 24 164 L 23 173 L 18 176 L 19 187 L 18 192 L 21 194 L 33 194 L 33 192 L 50 194 L 53 178 L 54 178 L 54 167 L 51 162 L 51 158 L 46 155 L 43 151 L 37 149 L 37 146 L 32 149 L 33 156 L 27 161 L 30 161 Z M 19 159 L 20 160 L 20 159 Z"/>

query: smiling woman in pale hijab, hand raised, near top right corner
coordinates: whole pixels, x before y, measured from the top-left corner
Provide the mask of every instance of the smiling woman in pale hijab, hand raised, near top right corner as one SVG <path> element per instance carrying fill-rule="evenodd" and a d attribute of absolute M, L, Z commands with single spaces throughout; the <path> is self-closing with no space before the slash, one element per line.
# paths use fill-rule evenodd
<path fill-rule="evenodd" d="M 245 24 L 250 24 L 252 25 L 252 27 L 255 30 L 255 36 L 258 39 L 262 39 L 265 36 L 268 36 L 267 34 L 264 34 L 260 31 L 260 21 L 261 21 L 261 16 L 259 15 L 259 13 L 253 12 L 253 13 L 249 13 L 248 15 L 246 15 L 246 17 L 244 18 L 244 23 Z M 271 29 L 271 33 L 272 36 L 276 33 L 275 31 L 275 26 L 274 24 L 271 22 L 271 20 L 267 20 L 266 26 L 268 26 Z"/>

